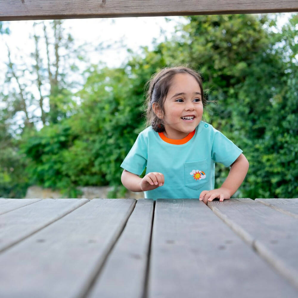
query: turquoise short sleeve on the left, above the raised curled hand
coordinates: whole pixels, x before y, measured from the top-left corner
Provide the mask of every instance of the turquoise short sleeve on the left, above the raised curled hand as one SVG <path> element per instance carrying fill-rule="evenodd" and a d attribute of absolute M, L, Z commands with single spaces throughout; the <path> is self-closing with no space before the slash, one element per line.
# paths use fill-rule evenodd
<path fill-rule="evenodd" d="M 148 145 L 144 136 L 139 134 L 120 167 L 128 172 L 141 175 L 147 165 L 147 159 Z"/>

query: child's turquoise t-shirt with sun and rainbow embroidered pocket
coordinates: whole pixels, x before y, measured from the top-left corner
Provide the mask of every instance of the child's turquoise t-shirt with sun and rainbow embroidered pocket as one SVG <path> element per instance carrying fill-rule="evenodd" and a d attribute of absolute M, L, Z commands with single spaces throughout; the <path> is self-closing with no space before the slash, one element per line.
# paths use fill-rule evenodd
<path fill-rule="evenodd" d="M 203 190 L 214 189 L 215 162 L 229 167 L 242 152 L 204 121 L 182 145 L 170 144 L 149 126 L 139 133 L 121 167 L 136 175 L 145 167 L 146 174 L 164 175 L 164 185 L 145 191 L 145 198 L 199 198 Z"/>

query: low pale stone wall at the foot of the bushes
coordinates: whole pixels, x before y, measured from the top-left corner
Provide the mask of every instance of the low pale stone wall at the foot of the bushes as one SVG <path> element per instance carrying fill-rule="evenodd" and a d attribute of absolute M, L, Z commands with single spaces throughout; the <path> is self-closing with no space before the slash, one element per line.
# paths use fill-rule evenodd
<path fill-rule="evenodd" d="M 109 186 L 84 186 L 84 187 L 78 187 L 78 189 L 82 190 L 83 194 L 80 196 L 80 198 L 86 198 L 89 200 L 92 200 L 94 198 L 107 198 L 108 191 L 112 190 L 112 187 Z M 65 198 L 65 196 L 61 195 L 58 191 L 53 191 L 50 188 L 41 188 L 38 186 L 31 186 L 28 188 L 26 193 L 26 199 L 59 199 L 59 198 Z M 134 198 L 134 199 L 140 199 L 144 198 L 144 193 L 134 193 L 132 191 L 127 191 L 125 194 L 125 197 L 123 198 Z"/>

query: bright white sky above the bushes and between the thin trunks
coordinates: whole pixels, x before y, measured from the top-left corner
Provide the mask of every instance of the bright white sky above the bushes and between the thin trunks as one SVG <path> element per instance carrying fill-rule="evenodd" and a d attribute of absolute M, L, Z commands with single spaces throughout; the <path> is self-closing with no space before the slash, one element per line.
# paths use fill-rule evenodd
<path fill-rule="evenodd" d="M 89 43 L 90 46 L 85 47 L 84 57 L 88 58 L 91 63 L 97 64 L 100 61 L 106 63 L 108 67 L 119 67 L 125 63 L 129 58 L 127 48 L 133 52 L 140 52 L 140 46 L 148 46 L 152 49 L 153 38 L 163 41 L 165 37 L 171 37 L 175 31 L 175 25 L 178 22 L 187 23 L 183 17 L 170 17 L 171 21 L 166 21 L 165 17 L 135 17 L 135 18 L 90 18 L 90 19 L 68 19 L 63 20 L 63 28 L 66 33 L 70 33 L 74 38 L 75 45 L 80 46 L 84 43 Z M 20 69 L 21 64 L 24 69 L 30 69 L 36 62 L 30 58 L 30 53 L 35 51 L 35 42 L 32 35 L 38 34 L 42 37 L 39 42 L 39 49 L 41 58 L 46 59 L 46 46 L 44 41 L 43 25 L 33 27 L 35 22 L 41 21 L 10 21 L 3 22 L 3 27 L 9 27 L 10 34 L 0 35 L 0 84 L 4 82 L 6 65 L 8 63 L 8 45 L 10 49 L 10 56 L 17 69 Z M 44 21 L 49 30 L 50 20 Z M 163 30 L 163 34 L 161 34 Z M 50 34 L 49 34 L 50 35 Z M 31 36 L 31 38 L 30 38 Z M 116 44 L 115 44 L 116 42 Z M 120 43 L 123 46 L 120 46 Z M 107 50 L 95 49 L 100 43 L 104 46 L 114 44 Z M 95 50 L 94 50 L 95 49 Z M 61 50 L 61 49 L 60 49 Z M 60 55 L 62 52 L 60 52 Z M 54 52 L 50 53 L 52 63 L 55 60 Z M 80 70 L 83 71 L 86 65 L 81 64 Z M 31 77 L 29 73 L 24 74 L 26 78 Z M 83 77 L 76 77 L 83 83 Z M 22 78 L 20 79 L 22 80 Z M 13 80 L 14 81 L 14 80 Z M 21 82 L 28 84 L 26 82 Z M 3 85 L 2 85 L 3 86 Z M 18 89 L 16 85 L 16 89 Z M 5 90 L 5 89 L 4 89 Z M 37 90 L 36 90 L 37 91 Z M 36 94 L 38 96 L 38 94 Z"/>

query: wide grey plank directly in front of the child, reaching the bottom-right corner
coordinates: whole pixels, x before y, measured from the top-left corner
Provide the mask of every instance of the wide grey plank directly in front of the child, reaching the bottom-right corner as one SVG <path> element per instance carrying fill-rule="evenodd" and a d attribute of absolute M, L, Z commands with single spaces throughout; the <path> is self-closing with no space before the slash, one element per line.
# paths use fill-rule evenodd
<path fill-rule="evenodd" d="M 198 199 L 156 201 L 148 283 L 149 298 L 298 295 Z"/>

